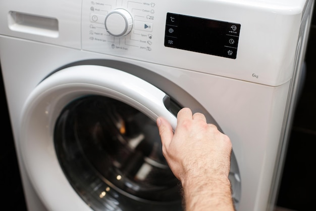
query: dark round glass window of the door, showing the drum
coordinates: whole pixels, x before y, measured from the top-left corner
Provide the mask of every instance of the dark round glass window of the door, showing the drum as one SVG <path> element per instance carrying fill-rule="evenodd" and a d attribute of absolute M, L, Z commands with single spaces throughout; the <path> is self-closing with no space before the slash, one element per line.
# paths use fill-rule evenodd
<path fill-rule="evenodd" d="M 95 210 L 181 210 L 157 126 L 137 109 L 80 98 L 62 111 L 54 137 L 65 175 Z"/>

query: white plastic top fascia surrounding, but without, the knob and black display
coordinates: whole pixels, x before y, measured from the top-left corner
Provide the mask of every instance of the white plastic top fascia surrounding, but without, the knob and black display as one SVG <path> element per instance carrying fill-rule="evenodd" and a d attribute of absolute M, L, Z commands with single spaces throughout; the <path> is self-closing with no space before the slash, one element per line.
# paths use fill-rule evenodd
<path fill-rule="evenodd" d="M 82 5 L 77 1 L 33 0 L 32 4 L 36 7 L 17 0 L 3 5 L 0 24 L 5 27 L 1 33 L 270 86 L 282 85 L 293 74 L 305 8 L 305 0 L 98 0 L 82 1 Z M 107 15 L 116 9 L 126 10 L 133 18 L 132 31 L 124 37 L 112 36 L 104 26 Z M 237 58 L 165 47 L 168 12 L 241 24 Z M 10 16 L 17 13 L 31 14 L 34 21 L 26 24 L 21 19 L 14 21 Z M 97 17 L 97 21 L 92 17 Z M 13 20 L 9 26 L 8 18 Z M 48 27 L 48 36 L 38 35 L 46 30 L 38 24 L 43 18 L 51 19 L 55 24 Z M 53 33 L 49 35 L 49 31 Z"/>

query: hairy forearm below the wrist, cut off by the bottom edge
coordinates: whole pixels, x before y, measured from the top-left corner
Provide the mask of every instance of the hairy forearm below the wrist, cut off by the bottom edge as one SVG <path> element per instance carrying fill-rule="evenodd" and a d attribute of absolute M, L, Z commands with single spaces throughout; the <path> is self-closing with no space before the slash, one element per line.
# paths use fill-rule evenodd
<path fill-rule="evenodd" d="M 227 178 L 192 179 L 186 180 L 182 184 L 186 211 L 235 210 L 231 196 L 231 186 Z"/>

